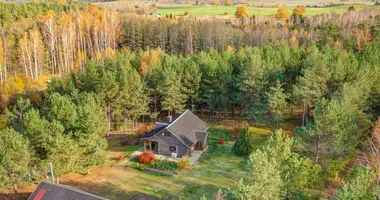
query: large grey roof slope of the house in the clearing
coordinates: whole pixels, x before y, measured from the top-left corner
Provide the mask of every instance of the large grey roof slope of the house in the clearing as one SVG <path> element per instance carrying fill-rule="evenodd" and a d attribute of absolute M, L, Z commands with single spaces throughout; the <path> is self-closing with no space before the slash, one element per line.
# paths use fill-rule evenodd
<path fill-rule="evenodd" d="M 186 146 L 191 147 L 197 141 L 195 133 L 206 132 L 208 125 L 190 110 L 186 110 L 166 129 L 177 136 Z"/>

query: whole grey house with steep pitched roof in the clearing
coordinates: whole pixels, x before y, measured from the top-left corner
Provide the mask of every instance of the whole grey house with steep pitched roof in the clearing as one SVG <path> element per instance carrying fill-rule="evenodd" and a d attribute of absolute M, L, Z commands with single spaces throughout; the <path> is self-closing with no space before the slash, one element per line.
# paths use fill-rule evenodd
<path fill-rule="evenodd" d="M 182 157 L 191 156 L 194 150 L 207 149 L 208 125 L 194 113 L 186 110 L 173 122 L 170 121 L 156 123 L 156 127 L 141 138 L 144 141 L 144 151 L 170 157 Z"/>

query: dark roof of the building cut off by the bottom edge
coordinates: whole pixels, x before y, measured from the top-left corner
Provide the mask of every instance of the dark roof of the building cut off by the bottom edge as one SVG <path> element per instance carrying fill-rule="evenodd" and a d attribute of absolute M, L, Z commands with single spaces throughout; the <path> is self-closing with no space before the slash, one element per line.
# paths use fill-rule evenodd
<path fill-rule="evenodd" d="M 108 200 L 66 185 L 41 182 L 28 200 Z"/>

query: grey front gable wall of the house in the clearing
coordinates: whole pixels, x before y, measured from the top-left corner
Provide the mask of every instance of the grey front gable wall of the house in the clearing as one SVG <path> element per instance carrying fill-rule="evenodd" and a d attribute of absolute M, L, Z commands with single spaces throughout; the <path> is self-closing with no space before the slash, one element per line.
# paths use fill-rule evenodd
<path fill-rule="evenodd" d="M 168 131 L 165 131 L 170 133 Z M 169 151 L 169 146 L 176 146 L 178 157 L 182 157 L 183 155 L 188 154 L 188 148 L 185 146 L 177 137 L 170 133 L 170 136 L 164 136 L 164 132 L 159 133 L 152 138 L 150 141 L 158 142 L 158 154 L 164 156 L 171 156 L 171 152 Z"/>

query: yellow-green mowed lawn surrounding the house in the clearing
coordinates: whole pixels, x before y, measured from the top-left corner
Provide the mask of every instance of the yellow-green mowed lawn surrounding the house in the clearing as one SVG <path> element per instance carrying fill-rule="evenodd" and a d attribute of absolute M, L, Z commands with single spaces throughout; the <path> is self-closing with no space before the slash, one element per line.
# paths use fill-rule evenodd
<path fill-rule="evenodd" d="M 284 130 L 290 132 L 299 125 L 298 119 L 287 119 Z M 209 149 L 191 171 L 173 176 L 162 176 L 140 171 L 134 165 L 116 159 L 129 155 L 139 145 L 122 147 L 110 142 L 110 161 L 105 166 L 94 167 L 90 174 L 72 173 L 60 178 L 61 183 L 78 187 L 110 199 L 131 199 L 135 195 L 150 195 L 158 199 L 199 199 L 202 195 L 213 197 L 219 189 L 236 188 L 236 183 L 246 177 L 246 157 L 231 153 L 233 141 L 228 141 L 229 131 L 223 122 L 211 125 Z M 260 148 L 271 131 L 265 125 L 249 128 L 254 147 Z M 217 140 L 226 138 L 224 145 Z"/>

